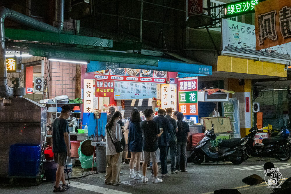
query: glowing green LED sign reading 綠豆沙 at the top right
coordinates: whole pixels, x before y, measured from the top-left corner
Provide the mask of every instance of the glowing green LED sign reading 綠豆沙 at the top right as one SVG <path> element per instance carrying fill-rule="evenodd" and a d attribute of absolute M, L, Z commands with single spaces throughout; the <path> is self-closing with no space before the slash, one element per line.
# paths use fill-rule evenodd
<path fill-rule="evenodd" d="M 247 13 L 255 13 L 255 5 L 265 0 L 242 0 L 223 5 L 224 16 L 233 17 Z"/>

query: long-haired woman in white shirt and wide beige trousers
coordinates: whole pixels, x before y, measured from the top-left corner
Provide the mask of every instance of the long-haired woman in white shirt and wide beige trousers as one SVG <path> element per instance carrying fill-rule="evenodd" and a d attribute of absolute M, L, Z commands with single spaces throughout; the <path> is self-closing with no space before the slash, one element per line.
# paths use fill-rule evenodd
<path fill-rule="evenodd" d="M 122 118 L 119 111 L 116 111 L 106 124 L 106 129 L 111 133 L 114 142 L 121 141 L 122 131 L 118 121 Z M 107 130 L 106 130 L 107 131 Z M 117 153 L 111 138 L 106 132 L 106 175 L 104 184 L 119 185 L 120 166 L 122 160 L 122 152 Z"/>

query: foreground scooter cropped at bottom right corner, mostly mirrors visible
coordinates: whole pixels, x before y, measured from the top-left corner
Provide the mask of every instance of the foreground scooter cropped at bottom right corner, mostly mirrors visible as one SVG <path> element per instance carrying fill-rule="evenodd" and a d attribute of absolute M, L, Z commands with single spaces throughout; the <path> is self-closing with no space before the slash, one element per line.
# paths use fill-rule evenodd
<path fill-rule="evenodd" d="M 271 162 L 267 162 L 264 165 L 264 172 L 265 172 L 265 178 L 263 179 L 262 177 L 260 177 L 259 175 L 253 174 L 251 176 L 248 176 L 244 179 L 242 179 L 242 182 L 253 186 L 253 185 L 257 185 L 257 184 L 261 184 L 263 181 L 265 181 L 265 183 L 268 186 L 273 186 L 273 193 L 271 194 L 289 194 L 291 191 L 291 177 L 289 177 L 288 179 L 286 179 L 283 182 L 283 177 L 280 173 L 280 175 L 278 176 L 278 173 L 276 172 L 272 172 L 268 170 L 274 169 L 274 164 Z M 276 173 L 273 174 L 273 173 Z M 274 181 L 274 182 L 273 182 Z M 228 194 L 241 194 L 237 189 L 231 188 L 231 189 L 219 189 L 219 190 L 215 190 L 214 194 L 221 194 L 221 193 L 228 193 Z"/>

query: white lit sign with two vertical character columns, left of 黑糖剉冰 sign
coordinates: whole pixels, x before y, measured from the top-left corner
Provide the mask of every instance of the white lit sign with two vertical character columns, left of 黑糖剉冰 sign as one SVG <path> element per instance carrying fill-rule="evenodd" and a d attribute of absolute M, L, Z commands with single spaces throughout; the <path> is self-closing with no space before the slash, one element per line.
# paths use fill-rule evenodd
<path fill-rule="evenodd" d="M 173 108 L 176 111 L 176 84 L 161 84 L 161 95 L 161 108 Z"/>

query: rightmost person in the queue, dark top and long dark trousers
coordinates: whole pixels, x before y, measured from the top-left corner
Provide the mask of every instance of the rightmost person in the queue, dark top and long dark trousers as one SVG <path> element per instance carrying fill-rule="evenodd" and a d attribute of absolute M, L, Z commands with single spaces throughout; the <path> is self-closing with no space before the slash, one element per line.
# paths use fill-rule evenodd
<path fill-rule="evenodd" d="M 187 157 L 186 157 L 186 145 L 189 136 L 189 125 L 187 122 L 183 121 L 183 113 L 177 113 L 177 125 L 178 132 L 177 135 L 177 155 L 176 155 L 176 170 L 178 172 L 187 172 Z"/>

